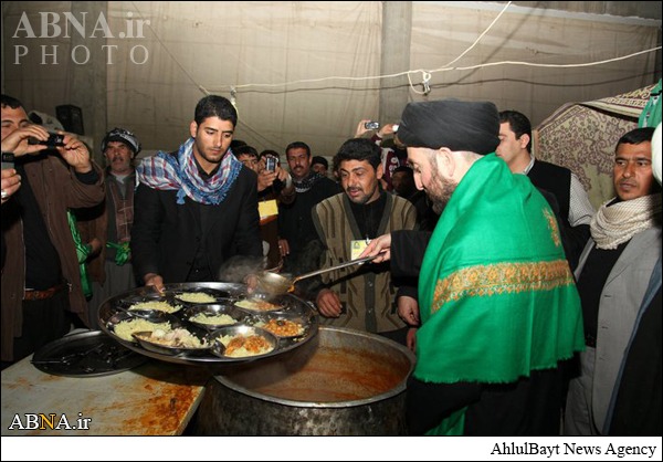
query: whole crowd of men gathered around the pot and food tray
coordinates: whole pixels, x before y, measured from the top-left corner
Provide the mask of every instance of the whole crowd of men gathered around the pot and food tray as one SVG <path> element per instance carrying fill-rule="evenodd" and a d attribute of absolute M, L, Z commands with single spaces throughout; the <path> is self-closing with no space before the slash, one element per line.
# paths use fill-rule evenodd
<path fill-rule="evenodd" d="M 414 350 L 410 434 L 661 434 L 661 106 L 619 139 L 596 211 L 535 158 L 522 113 L 440 99 L 370 137 L 366 122 L 332 172 L 304 141 L 286 169 L 233 141 L 238 112 L 210 95 L 177 149 L 138 165 L 138 137 L 108 132 L 102 169 L 2 95 L 3 368 L 97 328 L 101 302 L 138 285 L 222 281 L 241 261 L 253 291 L 264 269 L 372 256 L 296 293 L 323 324 Z"/>

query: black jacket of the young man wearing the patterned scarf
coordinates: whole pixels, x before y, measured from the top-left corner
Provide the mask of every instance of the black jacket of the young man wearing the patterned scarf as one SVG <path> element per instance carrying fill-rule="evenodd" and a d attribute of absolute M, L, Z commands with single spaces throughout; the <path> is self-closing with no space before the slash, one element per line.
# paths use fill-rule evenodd
<path fill-rule="evenodd" d="M 262 256 L 257 177 L 253 171 L 242 167 L 218 206 L 203 206 L 189 198 L 185 201 L 177 203 L 177 190 L 138 186 L 134 197 L 131 259 L 140 282 L 147 273 L 160 274 L 165 283 L 186 282 L 191 269 L 201 263 L 209 263 L 217 280 L 229 258 Z M 200 260 L 200 250 L 207 262 L 196 261 L 197 255 Z"/>

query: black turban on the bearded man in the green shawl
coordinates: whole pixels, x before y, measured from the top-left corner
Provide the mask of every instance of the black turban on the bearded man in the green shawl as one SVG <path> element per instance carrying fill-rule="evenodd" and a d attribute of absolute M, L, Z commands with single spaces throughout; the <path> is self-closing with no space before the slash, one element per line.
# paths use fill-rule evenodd
<path fill-rule="evenodd" d="M 485 155 L 499 145 L 499 113 L 493 103 L 439 99 L 409 103 L 398 128 L 408 147 Z"/>

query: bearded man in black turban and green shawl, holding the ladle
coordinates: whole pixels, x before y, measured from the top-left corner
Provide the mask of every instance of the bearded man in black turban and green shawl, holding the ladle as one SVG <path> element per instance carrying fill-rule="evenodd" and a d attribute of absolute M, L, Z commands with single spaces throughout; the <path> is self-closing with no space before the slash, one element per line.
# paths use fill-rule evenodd
<path fill-rule="evenodd" d="M 361 256 L 419 274 L 421 327 L 408 384 L 412 434 L 559 434 L 559 361 L 583 346 L 580 301 L 555 214 L 494 154 L 492 103 L 410 103 L 399 137 L 434 231 L 394 231 Z"/>

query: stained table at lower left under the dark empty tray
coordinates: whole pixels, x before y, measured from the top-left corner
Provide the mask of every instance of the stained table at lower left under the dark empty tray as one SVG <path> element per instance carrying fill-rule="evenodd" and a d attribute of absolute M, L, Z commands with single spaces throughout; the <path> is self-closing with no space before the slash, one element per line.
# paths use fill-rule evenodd
<path fill-rule="evenodd" d="M 61 377 L 31 358 L 2 370 L 3 437 L 181 434 L 210 378 L 203 367 L 155 359 L 110 376 Z"/>

